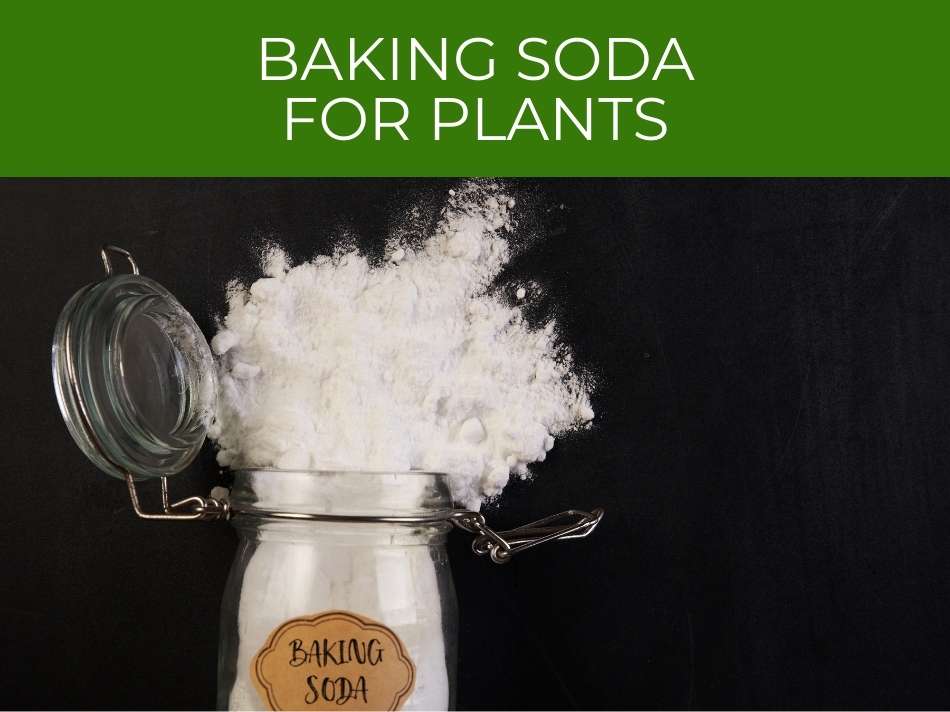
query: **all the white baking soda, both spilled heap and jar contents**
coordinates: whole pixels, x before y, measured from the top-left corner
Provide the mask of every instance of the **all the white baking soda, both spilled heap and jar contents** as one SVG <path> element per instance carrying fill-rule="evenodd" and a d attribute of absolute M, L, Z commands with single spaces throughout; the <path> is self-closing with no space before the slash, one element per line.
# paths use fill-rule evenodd
<path fill-rule="evenodd" d="M 232 285 L 212 340 L 221 464 L 447 472 L 455 500 L 477 509 L 511 473 L 543 460 L 556 435 L 590 421 L 553 322 L 531 328 L 507 303 L 510 289 L 491 289 L 511 253 L 513 207 L 497 189 L 451 191 L 434 231 L 392 237 L 378 264 L 344 250 L 292 266 L 270 249 L 264 278 Z M 520 303 L 527 290 L 515 296 Z M 269 473 L 257 486 L 266 497 L 285 499 L 293 486 L 293 501 L 326 502 L 327 492 L 308 491 L 322 480 L 282 477 Z M 355 511 L 372 504 L 355 501 L 365 494 L 335 487 L 330 504 Z M 400 486 L 410 508 L 421 495 L 411 481 Z M 308 522 L 300 542 L 258 536 L 237 606 L 231 709 L 260 707 L 249 671 L 272 630 L 337 608 L 384 622 L 406 645 L 417 677 L 404 709 L 447 708 L 445 564 L 428 546 L 395 546 L 392 529 Z"/>

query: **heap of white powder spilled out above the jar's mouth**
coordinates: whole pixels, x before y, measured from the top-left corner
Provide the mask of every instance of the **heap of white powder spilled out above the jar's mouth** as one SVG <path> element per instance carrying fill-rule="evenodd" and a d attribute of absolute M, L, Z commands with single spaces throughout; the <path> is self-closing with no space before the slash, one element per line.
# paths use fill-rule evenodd
<path fill-rule="evenodd" d="M 532 328 L 493 296 L 511 253 L 514 200 L 453 191 L 432 233 L 293 266 L 272 247 L 264 277 L 229 285 L 211 342 L 211 436 L 231 467 L 446 472 L 477 510 L 554 437 L 594 416 L 553 322 Z"/>

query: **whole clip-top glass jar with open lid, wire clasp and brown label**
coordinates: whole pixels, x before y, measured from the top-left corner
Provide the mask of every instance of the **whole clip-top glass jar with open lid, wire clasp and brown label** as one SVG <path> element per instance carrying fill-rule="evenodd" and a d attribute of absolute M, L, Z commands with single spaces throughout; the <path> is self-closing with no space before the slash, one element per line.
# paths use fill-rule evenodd
<path fill-rule="evenodd" d="M 115 274 L 123 258 L 130 274 Z M 122 478 L 143 519 L 232 517 L 240 547 L 221 613 L 218 705 L 230 709 L 448 709 L 457 613 L 445 549 L 456 526 L 495 563 L 588 536 L 602 509 L 508 531 L 452 508 L 431 472 L 242 470 L 228 497 L 173 501 L 170 477 L 202 447 L 214 361 L 191 315 L 101 252 L 105 278 L 79 290 L 56 327 L 53 382 L 66 425 L 100 470 Z M 139 485 L 160 483 L 148 511 Z M 217 489 L 217 488 L 216 488 Z"/>

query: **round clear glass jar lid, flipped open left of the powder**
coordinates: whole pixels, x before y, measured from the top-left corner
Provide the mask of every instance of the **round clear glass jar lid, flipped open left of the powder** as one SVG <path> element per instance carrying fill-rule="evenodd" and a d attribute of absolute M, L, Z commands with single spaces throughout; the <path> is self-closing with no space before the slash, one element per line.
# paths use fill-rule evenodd
<path fill-rule="evenodd" d="M 113 274 L 110 255 L 131 274 Z M 102 471 L 124 479 L 185 469 L 204 443 L 217 377 L 184 307 L 139 274 L 131 255 L 102 251 L 106 278 L 66 304 L 53 339 L 53 382 L 70 434 Z"/>

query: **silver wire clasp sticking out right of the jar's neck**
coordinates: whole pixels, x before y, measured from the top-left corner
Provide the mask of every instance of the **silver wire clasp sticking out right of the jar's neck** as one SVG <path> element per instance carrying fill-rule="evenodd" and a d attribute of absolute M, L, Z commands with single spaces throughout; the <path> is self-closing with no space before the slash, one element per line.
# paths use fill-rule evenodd
<path fill-rule="evenodd" d="M 600 507 L 584 512 L 568 509 L 536 522 L 514 529 L 495 531 L 478 512 L 454 512 L 450 521 L 459 529 L 475 534 L 472 551 L 488 554 L 496 564 L 506 564 L 515 554 L 539 544 L 558 539 L 583 539 L 600 524 L 604 510 Z"/>

